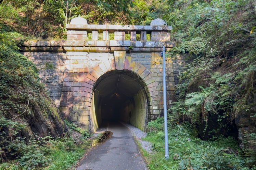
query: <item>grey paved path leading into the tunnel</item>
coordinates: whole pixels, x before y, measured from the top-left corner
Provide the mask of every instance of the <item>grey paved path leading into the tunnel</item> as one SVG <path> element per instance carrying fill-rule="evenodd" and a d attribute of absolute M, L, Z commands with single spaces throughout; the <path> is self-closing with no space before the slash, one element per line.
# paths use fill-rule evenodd
<path fill-rule="evenodd" d="M 94 146 L 77 170 L 147 170 L 130 129 L 119 122 L 109 122 L 108 130 L 112 137 Z"/>

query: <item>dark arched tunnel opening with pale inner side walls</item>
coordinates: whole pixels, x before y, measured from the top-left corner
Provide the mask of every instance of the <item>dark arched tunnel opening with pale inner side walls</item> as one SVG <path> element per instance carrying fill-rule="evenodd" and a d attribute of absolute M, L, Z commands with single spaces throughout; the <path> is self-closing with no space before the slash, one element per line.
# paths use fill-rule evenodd
<path fill-rule="evenodd" d="M 93 87 L 93 126 L 124 121 L 144 131 L 148 107 L 142 83 L 143 80 L 132 72 L 111 71 L 102 75 Z"/>

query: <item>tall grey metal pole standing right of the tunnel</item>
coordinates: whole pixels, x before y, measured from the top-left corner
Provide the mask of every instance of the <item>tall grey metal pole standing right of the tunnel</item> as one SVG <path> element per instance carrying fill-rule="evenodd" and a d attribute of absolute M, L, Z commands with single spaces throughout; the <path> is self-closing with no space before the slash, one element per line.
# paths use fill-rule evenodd
<path fill-rule="evenodd" d="M 165 83 L 165 46 L 163 46 L 163 86 L 164 86 L 164 138 L 165 138 L 165 159 L 169 159 L 168 132 L 167 132 L 167 108 L 166 108 L 166 83 Z"/>

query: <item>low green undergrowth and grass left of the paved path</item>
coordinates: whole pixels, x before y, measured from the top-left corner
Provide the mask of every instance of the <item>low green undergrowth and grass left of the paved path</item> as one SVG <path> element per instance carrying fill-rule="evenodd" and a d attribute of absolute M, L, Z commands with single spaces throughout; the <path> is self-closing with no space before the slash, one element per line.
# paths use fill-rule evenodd
<path fill-rule="evenodd" d="M 86 130 L 81 130 L 72 122 L 66 122 L 66 124 L 69 131 L 63 138 L 53 139 L 47 136 L 40 138 L 40 141 L 31 138 L 29 143 L 22 138 L 17 138 L 11 147 L 14 147 L 20 156 L 0 164 L 0 170 L 72 168 L 84 155 L 86 149 L 90 148 L 92 140 L 87 139 L 91 135 Z"/>

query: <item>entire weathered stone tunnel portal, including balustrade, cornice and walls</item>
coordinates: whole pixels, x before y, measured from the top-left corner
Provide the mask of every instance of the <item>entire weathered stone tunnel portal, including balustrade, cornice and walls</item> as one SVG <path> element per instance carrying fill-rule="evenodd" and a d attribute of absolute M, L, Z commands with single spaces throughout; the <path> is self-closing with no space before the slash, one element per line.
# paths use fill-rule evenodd
<path fill-rule="evenodd" d="M 98 25 L 98 27 L 106 26 Z M 126 89 L 125 91 L 129 91 L 129 87 L 126 86 L 133 88 L 133 84 L 138 83 L 137 88 L 133 88 L 132 92 L 121 92 L 120 88 L 118 89 L 118 77 L 117 86 L 108 82 L 104 90 L 113 94 L 118 92 L 119 95 L 123 95 L 123 99 L 126 101 L 129 98 L 134 98 L 134 101 L 142 102 L 141 106 L 135 104 L 133 108 L 137 108 L 134 114 L 139 114 L 139 110 L 146 112 L 142 114 L 146 115 L 145 123 L 163 115 L 163 59 L 161 50 L 163 45 L 167 49 L 175 46 L 174 42 L 169 42 L 168 29 L 170 27 L 168 26 L 121 26 L 120 30 L 117 29 L 118 26 L 107 27 L 107 31 L 104 29 L 102 31 L 97 29 L 97 25 L 67 25 L 69 40 L 28 42 L 22 47 L 23 51 L 29 51 L 23 52 L 23 54 L 36 63 L 40 69 L 41 82 L 46 85 L 62 116 L 92 133 L 95 132 L 95 128 L 98 128 L 98 125 L 95 125 L 97 121 L 94 119 L 99 119 L 99 116 L 96 118 L 95 115 L 98 113 L 95 113 L 95 110 L 97 112 L 100 108 L 99 105 L 102 105 L 97 103 L 99 108 L 96 108 L 95 102 L 101 102 L 101 99 L 100 96 L 95 99 L 94 93 L 103 80 L 105 81 L 113 75 L 123 76 L 120 84 L 123 81 L 122 86 L 123 89 Z M 132 36 L 131 40 L 133 41 L 125 41 L 124 37 L 125 33 L 128 32 L 127 30 L 130 30 L 133 35 L 140 33 L 141 41 L 133 40 L 134 37 Z M 98 40 L 98 32 L 101 31 L 106 35 L 104 41 Z M 156 39 L 146 42 L 145 35 L 149 31 L 152 36 L 155 36 L 153 39 Z M 87 40 L 88 32 L 93 33 L 90 41 Z M 115 40 L 108 40 L 108 32 L 115 33 Z M 174 72 L 172 61 L 167 59 L 167 107 L 176 102 Z M 131 80 L 127 80 L 127 76 Z M 104 88 L 104 86 L 102 87 Z M 102 89 L 100 93 L 104 97 Z M 146 96 L 146 99 L 138 99 L 138 96 Z M 111 96 L 106 97 L 111 98 Z M 144 106 L 146 109 L 141 109 Z M 144 128 L 143 124 L 138 124 L 142 121 L 136 120 L 140 117 L 135 115 L 131 121 Z"/>

